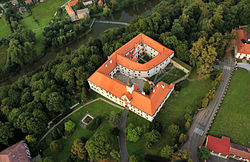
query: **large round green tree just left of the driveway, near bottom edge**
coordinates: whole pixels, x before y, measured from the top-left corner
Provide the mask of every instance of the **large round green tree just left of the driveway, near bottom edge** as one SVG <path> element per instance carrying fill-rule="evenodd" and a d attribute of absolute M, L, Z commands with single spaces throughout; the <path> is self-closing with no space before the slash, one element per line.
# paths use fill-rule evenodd
<path fill-rule="evenodd" d="M 106 134 L 97 132 L 87 141 L 85 148 L 91 159 L 100 160 L 109 155 L 111 144 Z"/>

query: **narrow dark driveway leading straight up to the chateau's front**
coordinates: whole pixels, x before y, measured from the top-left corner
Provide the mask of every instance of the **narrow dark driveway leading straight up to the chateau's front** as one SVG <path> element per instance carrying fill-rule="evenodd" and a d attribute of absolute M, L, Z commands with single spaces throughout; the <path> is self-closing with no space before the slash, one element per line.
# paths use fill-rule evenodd
<path fill-rule="evenodd" d="M 121 127 L 120 127 L 120 133 L 119 133 L 119 143 L 120 143 L 120 149 L 121 149 L 121 162 L 128 162 L 129 161 L 127 146 L 126 146 L 126 135 L 124 132 L 124 130 L 126 128 L 127 115 L 128 115 L 128 110 L 124 109 L 122 112 Z"/>

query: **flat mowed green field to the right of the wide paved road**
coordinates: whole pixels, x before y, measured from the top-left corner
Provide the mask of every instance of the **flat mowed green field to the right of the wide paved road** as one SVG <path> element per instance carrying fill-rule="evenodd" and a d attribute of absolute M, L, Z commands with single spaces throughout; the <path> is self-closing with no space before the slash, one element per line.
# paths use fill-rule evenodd
<path fill-rule="evenodd" d="M 209 134 L 219 138 L 227 136 L 233 143 L 250 147 L 250 73 L 247 70 L 233 72 Z"/>

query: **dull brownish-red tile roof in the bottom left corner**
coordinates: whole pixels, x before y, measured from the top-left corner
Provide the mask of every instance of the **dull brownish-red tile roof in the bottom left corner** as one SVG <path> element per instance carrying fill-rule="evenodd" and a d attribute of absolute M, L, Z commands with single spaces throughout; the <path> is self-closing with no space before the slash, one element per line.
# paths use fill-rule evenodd
<path fill-rule="evenodd" d="M 24 141 L 20 141 L 0 152 L 0 162 L 29 162 Z"/>

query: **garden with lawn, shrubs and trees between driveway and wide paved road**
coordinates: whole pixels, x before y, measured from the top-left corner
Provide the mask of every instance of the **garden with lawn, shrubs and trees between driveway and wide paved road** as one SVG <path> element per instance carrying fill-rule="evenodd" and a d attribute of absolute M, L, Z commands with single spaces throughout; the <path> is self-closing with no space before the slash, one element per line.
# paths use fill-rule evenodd
<path fill-rule="evenodd" d="M 176 151 L 186 141 L 192 116 L 211 87 L 211 79 L 180 82 L 152 123 L 129 112 L 126 133 L 128 136 L 132 129 L 132 137 L 137 136 L 127 138 L 129 155 L 142 161 L 148 155 L 176 160 L 188 154 Z"/>

